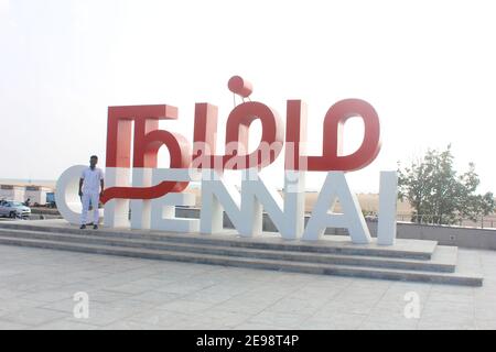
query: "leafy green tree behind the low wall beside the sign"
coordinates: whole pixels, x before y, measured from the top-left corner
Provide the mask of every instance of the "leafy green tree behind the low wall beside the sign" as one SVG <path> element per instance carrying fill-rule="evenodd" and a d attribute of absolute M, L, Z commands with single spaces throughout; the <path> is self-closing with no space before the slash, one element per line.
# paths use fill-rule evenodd
<path fill-rule="evenodd" d="M 451 145 L 445 151 L 429 150 L 409 167 L 398 163 L 398 197 L 410 202 L 413 222 L 453 224 L 493 213 L 494 196 L 477 195 L 478 185 L 474 164 L 462 175 L 453 169 Z"/>

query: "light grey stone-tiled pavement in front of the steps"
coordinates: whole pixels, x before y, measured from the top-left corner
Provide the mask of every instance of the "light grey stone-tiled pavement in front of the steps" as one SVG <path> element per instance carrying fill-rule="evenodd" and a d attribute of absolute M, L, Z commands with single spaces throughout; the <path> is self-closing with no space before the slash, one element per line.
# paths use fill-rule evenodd
<path fill-rule="evenodd" d="M 459 255 L 483 287 L 0 246 L 0 329 L 496 329 L 496 252 Z"/>

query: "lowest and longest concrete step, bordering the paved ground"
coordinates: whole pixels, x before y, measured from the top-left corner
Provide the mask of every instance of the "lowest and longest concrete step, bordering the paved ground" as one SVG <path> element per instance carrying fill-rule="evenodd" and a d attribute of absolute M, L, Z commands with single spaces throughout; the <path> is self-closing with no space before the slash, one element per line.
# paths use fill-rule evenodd
<path fill-rule="evenodd" d="M 466 286 L 482 286 L 483 277 L 470 273 L 433 273 L 421 271 L 393 270 L 385 267 L 360 267 L 352 265 L 331 265 L 322 263 L 301 263 L 284 260 L 261 260 L 238 256 L 225 256 L 201 254 L 180 251 L 163 251 L 151 249 L 136 249 L 111 245 L 98 245 L 89 243 L 71 243 L 61 241 L 47 241 L 40 239 L 23 239 L 1 237 L 0 244 L 43 248 L 52 250 L 65 250 L 84 253 L 108 254 L 141 257 L 150 260 L 166 260 L 198 264 L 216 264 L 227 266 L 240 266 L 250 268 L 287 271 L 309 274 L 342 275 L 353 277 L 380 278 L 392 280 L 425 282 L 435 284 L 452 284 Z"/>

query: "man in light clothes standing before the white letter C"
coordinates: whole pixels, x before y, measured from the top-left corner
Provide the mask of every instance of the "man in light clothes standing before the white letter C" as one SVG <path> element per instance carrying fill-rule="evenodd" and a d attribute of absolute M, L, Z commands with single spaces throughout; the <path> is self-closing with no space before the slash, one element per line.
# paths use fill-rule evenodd
<path fill-rule="evenodd" d="M 104 172 L 96 167 L 98 156 L 93 155 L 89 160 L 89 167 L 85 168 L 79 179 L 79 197 L 83 201 L 83 212 L 80 215 L 80 229 L 86 229 L 86 219 L 88 217 L 89 202 L 93 207 L 93 229 L 98 230 L 98 204 L 104 191 Z"/>

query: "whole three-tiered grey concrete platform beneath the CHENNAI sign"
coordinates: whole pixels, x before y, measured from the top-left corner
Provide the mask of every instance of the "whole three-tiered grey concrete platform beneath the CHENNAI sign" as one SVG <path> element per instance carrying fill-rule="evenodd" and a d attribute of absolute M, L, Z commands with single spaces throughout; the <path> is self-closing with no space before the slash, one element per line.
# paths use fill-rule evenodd
<path fill-rule="evenodd" d="M 393 246 L 356 245 L 345 237 L 317 243 L 273 234 L 241 239 L 152 231 L 79 230 L 65 221 L 0 223 L 0 244 L 229 265 L 309 274 L 481 286 L 482 275 L 456 270 L 457 249 L 433 241 L 398 240 Z"/>

